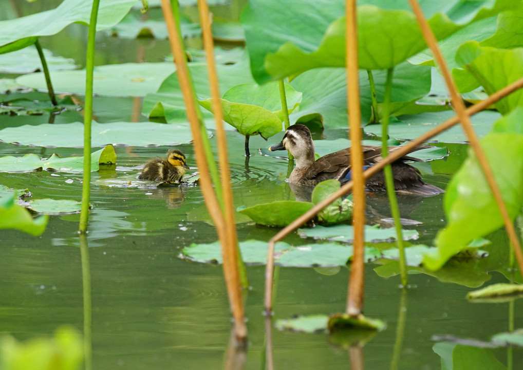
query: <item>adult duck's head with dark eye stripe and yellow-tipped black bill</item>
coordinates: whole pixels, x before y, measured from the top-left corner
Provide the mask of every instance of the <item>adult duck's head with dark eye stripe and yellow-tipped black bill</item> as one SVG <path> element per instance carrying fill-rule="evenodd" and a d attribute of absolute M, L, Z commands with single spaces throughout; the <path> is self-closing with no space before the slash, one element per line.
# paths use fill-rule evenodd
<path fill-rule="evenodd" d="M 314 161 L 314 141 L 312 141 L 311 131 L 305 125 L 294 124 L 290 126 L 285 131 L 283 140 L 279 144 L 272 145 L 269 150 L 271 152 L 288 150 L 297 162 L 301 159 Z"/>

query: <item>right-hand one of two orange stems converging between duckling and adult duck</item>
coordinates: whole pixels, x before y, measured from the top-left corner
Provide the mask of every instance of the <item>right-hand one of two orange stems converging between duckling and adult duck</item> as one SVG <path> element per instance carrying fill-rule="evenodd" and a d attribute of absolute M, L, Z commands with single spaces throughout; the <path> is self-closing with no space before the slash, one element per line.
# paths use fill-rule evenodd
<path fill-rule="evenodd" d="M 247 327 L 245 325 L 245 311 L 242 301 L 242 283 L 248 286 L 245 265 L 241 259 L 238 237 L 236 234 L 236 222 L 234 217 L 234 198 L 231 186 L 231 171 L 229 169 L 229 158 L 227 148 L 227 137 L 223 127 L 223 112 L 220 103 L 220 88 L 218 85 L 218 75 L 214 61 L 214 43 L 210 24 L 209 7 L 206 0 L 198 0 L 198 10 L 200 13 L 200 24 L 203 35 L 203 45 L 207 55 L 207 70 L 209 74 L 209 85 L 211 89 L 214 119 L 216 121 L 216 132 L 218 141 L 218 156 L 220 161 L 221 184 L 223 190 L 223 205 L 226 238 L 222 240 L 223 272 L 227 285 L 228 296 L 231 310 L 234 317 L 234 327 L 236 340 L 246 343 Z"/>

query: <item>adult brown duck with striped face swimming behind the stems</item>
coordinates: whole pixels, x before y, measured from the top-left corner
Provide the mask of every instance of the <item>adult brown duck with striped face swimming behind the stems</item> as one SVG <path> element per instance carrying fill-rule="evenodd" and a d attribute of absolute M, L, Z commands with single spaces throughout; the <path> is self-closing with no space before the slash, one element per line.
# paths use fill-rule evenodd
<path fill-rule="evenodd" d="M 389 147 L 389 153 L 399 147 Z M 418 145 L 411 152 L 430 148 L 430 145 Z M 316 186 L 322 181 L 334 178 L 342 184 L 351 180 L 349 149 L 339 150 L 314 160 L 314 142 L 312 141 L 309 128 L 294 124 L 290 126 L 283 140 L 269 148 L 270 151 L 288 150 L 296 161 L 296 166 L 289 177 L 290 183 L 298 185 Z M 376 164 L 381 160 L 381 147 L 363 145 L 364 169 Z M 421 173 L 415 167 L 404 163 L 404 161 L 422 162 L 422 160 L 411 156 L 403 156 L 392 163 L 394 175 L 394 186 L 397 193 L 408 195 L 431 196 L 443 193 L 444 190 L 437 186 L 425 183 Z M 370 192 L 385 191 L 385 176 L 378 172 L 367 180 L 367 190 Z"/>

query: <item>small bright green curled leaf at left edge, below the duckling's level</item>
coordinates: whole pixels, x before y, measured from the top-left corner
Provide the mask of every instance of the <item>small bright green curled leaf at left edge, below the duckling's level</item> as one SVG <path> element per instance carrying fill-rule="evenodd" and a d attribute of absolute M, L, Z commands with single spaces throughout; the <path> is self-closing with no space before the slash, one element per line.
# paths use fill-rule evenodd
<path fill-rule="evenodd" d="M 38 236 L 46 230 L 49 216 L 32 218 L 27 209 L 15 203 L 15 192 L 0 197 L 0 229 L 16 229 Z"/>

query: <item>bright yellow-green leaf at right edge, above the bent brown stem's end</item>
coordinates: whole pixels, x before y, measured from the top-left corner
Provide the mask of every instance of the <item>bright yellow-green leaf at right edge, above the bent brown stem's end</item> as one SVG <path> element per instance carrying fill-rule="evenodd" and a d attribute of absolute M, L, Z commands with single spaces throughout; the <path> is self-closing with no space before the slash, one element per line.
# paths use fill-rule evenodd
<path fill-rule="evenodd" d="M 480 47 L 475 41 L 463 44 L 456 54 L 458 63 L 476 80 L 476 86 L 482 85 L 488 94 L 493 94 L 502 87 L 515 82 L 523 75 L 523 48 L 505 50 Z M 467 72 L 453 70 L 461 92 L 470 91 L 474 84 L 469 83 Z M 503 114 L 517 105 L 523 104 L 523 93 L 519 90 L 496 103 L 496 108 Z"/>

